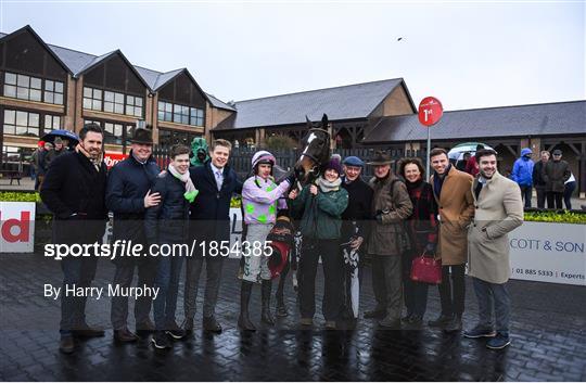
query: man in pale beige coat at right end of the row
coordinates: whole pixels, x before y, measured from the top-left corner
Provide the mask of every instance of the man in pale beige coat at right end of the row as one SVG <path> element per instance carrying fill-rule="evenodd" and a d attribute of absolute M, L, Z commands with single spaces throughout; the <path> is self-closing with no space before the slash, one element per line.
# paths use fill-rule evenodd
<path fill-rule="evenodd" d="M 476 153 L 480 166 L 474 180 L 474 220 L 468 230 L 468 275 L 472 277 L 479 302 L 479 323 L 466 337 L 491 337 L 486 346 L 505 348 L 510 344 L 510 277 L 508 233 L 523 224 L 523 202 L 519 186 L 497 170 L 494 150 Z M 496 317 L 493 327 L 493 301 Z M 496 335 L 496 336 L 495 336 Z"/>

